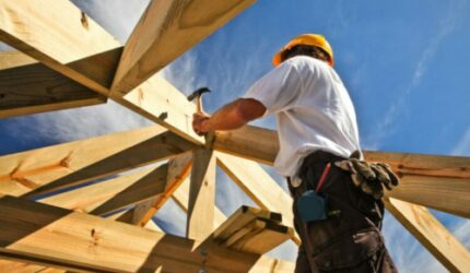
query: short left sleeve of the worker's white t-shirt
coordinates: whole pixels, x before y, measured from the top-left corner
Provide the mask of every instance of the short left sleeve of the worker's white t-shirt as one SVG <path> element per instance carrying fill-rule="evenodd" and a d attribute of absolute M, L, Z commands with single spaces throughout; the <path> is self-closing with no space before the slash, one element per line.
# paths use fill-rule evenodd
<path fill-rule="evenodd" d="M 258 80 L 242 97 L 260 102 L 267 108 L 267 115 L 275 114 L 289 109 L 298 97 L 301 88 L 301 76 L 296 68 L 285 61 Z"/>

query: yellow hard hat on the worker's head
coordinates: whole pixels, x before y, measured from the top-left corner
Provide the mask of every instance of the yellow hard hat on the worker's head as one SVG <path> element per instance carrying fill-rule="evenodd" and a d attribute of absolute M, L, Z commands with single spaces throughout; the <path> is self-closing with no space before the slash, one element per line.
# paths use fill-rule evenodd
<path fill-rule="evenodd" d="M 278 67 L 282 62 L 282 55 L 284 54 L 284 51 L 298 45 L 316 46 L 324 49 L 325 52 L 327 52 L 330 57 L 328 63 L 330 64 L 330 67 L 333 67 L 333 50 L 331 49 L 330 44 L 328 44 L 328 40 L 319 34 L 302 34 L 293 38 L 291 41 L 287 43 L 287 45 L 285 45 L 279 52 L 274 55 L 274 57 L 272 58 L 272 64 L 274 64 L 274 67 Z"/>

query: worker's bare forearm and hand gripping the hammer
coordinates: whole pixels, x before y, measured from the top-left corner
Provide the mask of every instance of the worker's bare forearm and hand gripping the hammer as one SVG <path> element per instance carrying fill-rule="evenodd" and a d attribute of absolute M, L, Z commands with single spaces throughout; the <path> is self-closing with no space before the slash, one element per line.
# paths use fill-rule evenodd
<path fill-rule="evenodd" d="M 249 121 L 260 118 L 266 112 L 266 107 L 252 98 L 238 98 L 219 110 L 212 116 L 197 112 L 193 115 L 192 129 L 198 134 L 209 131 L 234 130 Z"/>

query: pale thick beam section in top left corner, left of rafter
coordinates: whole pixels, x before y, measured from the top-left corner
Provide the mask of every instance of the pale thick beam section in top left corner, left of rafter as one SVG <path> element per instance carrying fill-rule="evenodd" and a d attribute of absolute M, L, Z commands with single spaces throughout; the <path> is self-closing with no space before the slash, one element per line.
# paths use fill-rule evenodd
<path fill-rule="evenodd" d="M 0 5 L 2 41 L 103 95 L 108 93 L 109 71 L 117 68 L 121 45 L 73 3 L 1 0 Z M 117 50 L 114 58 L 80 63 L 110 50 Z"/>

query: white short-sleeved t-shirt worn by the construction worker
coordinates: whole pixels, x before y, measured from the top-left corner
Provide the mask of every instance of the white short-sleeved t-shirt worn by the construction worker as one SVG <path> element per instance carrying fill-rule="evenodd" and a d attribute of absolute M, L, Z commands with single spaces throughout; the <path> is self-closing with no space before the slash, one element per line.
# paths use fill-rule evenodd
<path fill-rule="evenodd" d="M 274 167 L 294 177 L 302 159 L 322 150 L 349 157 L 360 150 L 354 106 L 341 79 L 324 61 L 291 58 L 257 81 L 244 98 L 275 114 L 280 150 Z"/>

